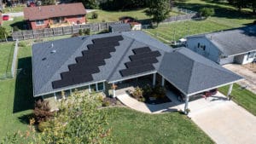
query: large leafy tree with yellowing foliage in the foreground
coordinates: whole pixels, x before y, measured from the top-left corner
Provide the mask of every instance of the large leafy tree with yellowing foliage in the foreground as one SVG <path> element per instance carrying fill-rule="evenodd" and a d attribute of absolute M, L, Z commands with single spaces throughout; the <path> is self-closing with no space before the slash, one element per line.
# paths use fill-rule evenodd
<path fill-rule="evenodd" d="M 42 133 L 35 133 L 30 125 L 32 130 L 26 131 L 25 134 L 18 132 L 7 135 L 3 143 L 16 143 L 17 139 L 40 144 L 112 143 L 109 136 L 111 130 L 106 129 L 107 113 L 100 110 L 100 106 L 102 103 L 97 95 L 74 94 L 61 101 L 59 111 L 55 113 L 55 117 L 47 121 L 48 124 L 44 125 Z M 30 124 L 34 124 L 34 120 L 31 120 Z"/>

